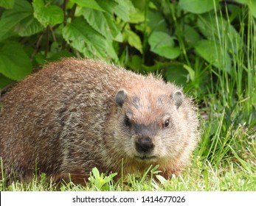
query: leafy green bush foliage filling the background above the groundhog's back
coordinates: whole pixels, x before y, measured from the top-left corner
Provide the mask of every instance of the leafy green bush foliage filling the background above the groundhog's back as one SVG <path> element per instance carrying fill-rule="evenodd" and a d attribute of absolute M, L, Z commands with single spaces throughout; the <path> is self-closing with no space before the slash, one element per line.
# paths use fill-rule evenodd
<path fill-rule="evenodd" d="M 0 43 L 26 55 L 24 65 L 17 55 L 13 58 L 19 68 L 8 68 L 8 58 L 1 58 L 1 82 L 24 78 L 31 63 L 35 67 L 72 55 L 114 61 L 135 71 L 161 71 L 167 80 L 175 73 L 182 77 L 176 79 L 179 85 L 198 81 L 187 70 L 195 68 L 198 56 L 230 74 L 231 53 L 243 49 L 235 26 L 244 10 L 255 14 L 254 2 L 0 0 Z M 223 49 L 224 40 L 230 49 Z"/>

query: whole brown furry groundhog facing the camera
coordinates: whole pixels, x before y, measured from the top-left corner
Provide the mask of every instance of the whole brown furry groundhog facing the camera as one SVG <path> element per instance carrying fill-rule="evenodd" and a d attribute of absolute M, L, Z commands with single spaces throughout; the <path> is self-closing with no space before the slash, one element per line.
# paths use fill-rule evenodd
<path fill-rule="evenodd" d="M 170 178 L 199 141 L 196 107 L 181 88 L 97 60 L 50 63 L 1 104 L 4 180 L 37 171 L 83 184 L 93 167 L 140 174 L 151 165 Z"/>

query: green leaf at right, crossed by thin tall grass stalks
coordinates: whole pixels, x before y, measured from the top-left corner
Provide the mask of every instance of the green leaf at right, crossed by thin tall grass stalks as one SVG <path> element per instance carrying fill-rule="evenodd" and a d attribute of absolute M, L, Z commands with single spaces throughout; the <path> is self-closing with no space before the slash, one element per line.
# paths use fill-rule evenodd
<path fill-rule="evenodd" d="M 211 40 L 201 40 L 196 43 L 197 53 L 215 67 L 230 73 L 231 59 L 221 46 Z"/>

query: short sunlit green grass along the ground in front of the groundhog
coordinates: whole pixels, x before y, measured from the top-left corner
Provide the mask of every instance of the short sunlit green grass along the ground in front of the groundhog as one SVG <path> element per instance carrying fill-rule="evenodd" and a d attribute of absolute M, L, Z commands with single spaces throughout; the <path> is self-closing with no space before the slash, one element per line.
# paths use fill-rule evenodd
<path fill-rule="evenodd" d="M 97 172 L 96 172 L 97 173 Z M 32 180 L 27 184 L 13 182 L 2 191 L 256 191 L 255 166 L 249 162 L 225 163 L 215 168 L 209 161 L 202 161 L 201 157 L 194 157 L 193 164 L 180 177 L 173 177 L 171 182 L 156 175 L 157 180 L 151 178 L 154 171 L 145 177 L 128 175 L 123 182 L 106 177 L 103 174 L 91 177 L 86 186 L 74 185 L 72 182 L 62 183 L 56 187 L 42 175 L 39 180 Z M 157 172 L 156 172 L 157 173 Z"/>

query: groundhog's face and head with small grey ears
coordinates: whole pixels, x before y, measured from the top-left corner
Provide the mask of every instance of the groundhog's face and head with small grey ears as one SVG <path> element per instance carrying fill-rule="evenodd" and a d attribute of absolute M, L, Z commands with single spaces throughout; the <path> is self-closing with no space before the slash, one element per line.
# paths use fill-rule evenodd
<path fill-rule="evenodd" d="M 144 163 L 178 157 L 187 144 L 181 90 L 121 89 L 115 102 L 119 129 L 114 138 L 125 157 Z"/>

